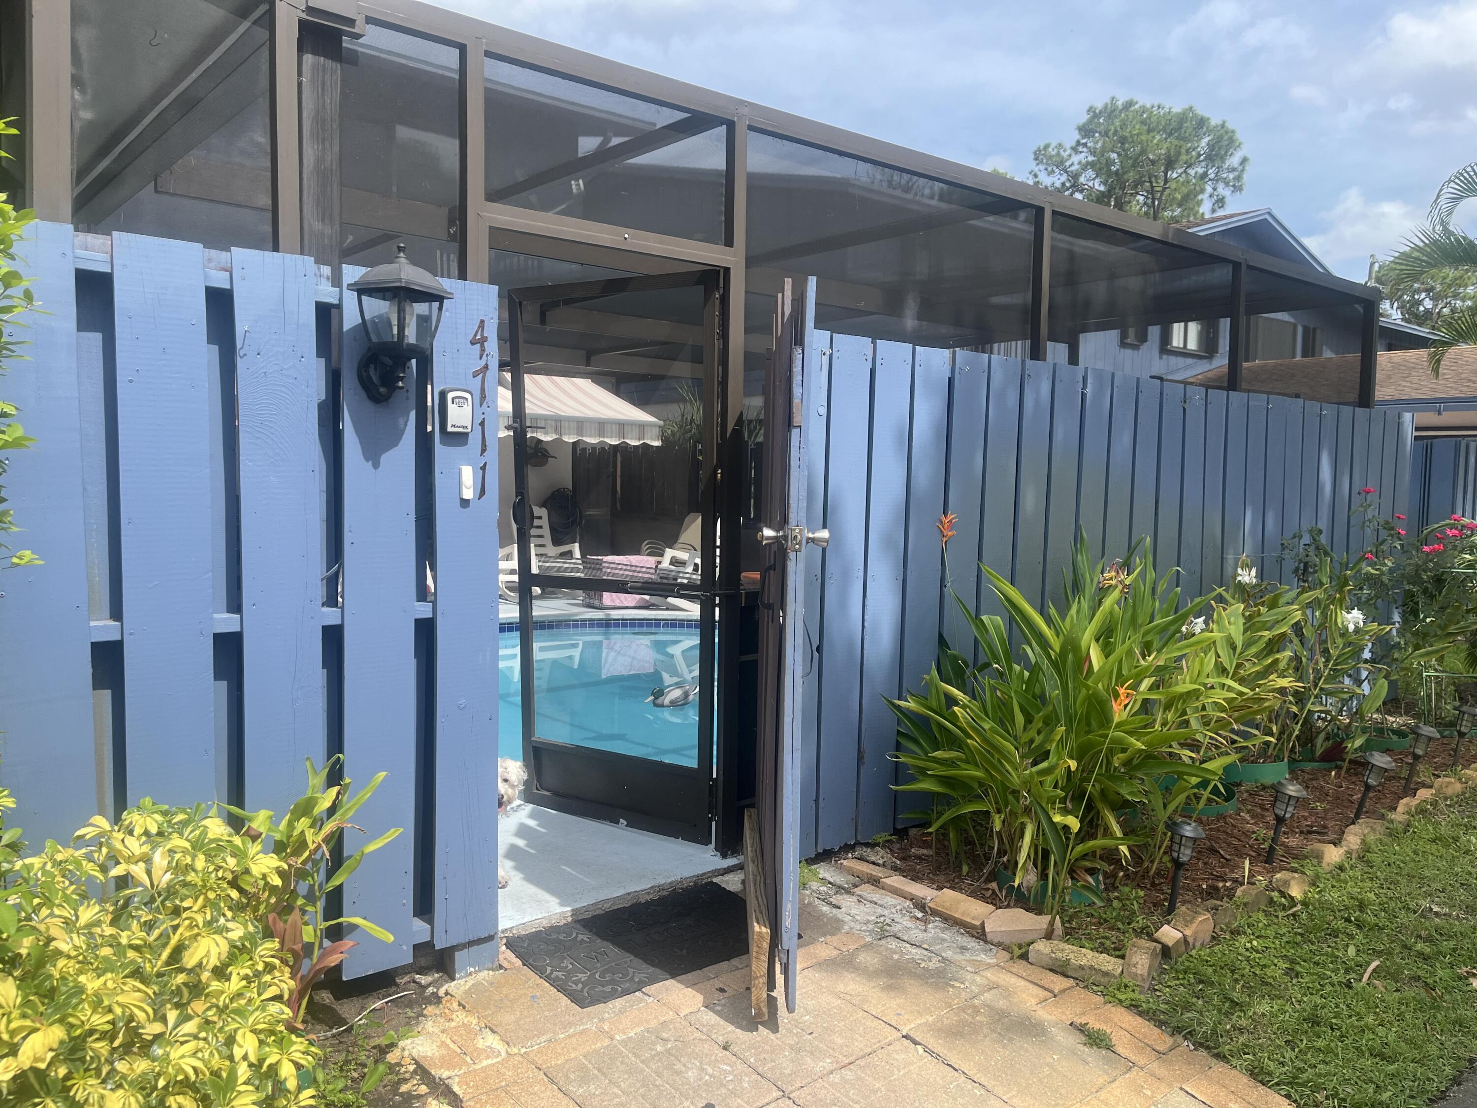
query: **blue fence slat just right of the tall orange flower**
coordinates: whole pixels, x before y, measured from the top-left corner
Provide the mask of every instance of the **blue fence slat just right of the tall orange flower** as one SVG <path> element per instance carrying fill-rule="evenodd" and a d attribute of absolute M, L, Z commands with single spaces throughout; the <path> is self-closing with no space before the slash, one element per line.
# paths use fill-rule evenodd
<path fill-rule="evenodd" d="M 944 548 L 948 581 L 966 601 L 978 604 L 981 488 L 985 477 L 985 412 L 990 396 L 990 355 L 960 350 L 954 355 L 954 389 L 948 423 L 948 493 L 945 511 L 954 520 L 954 538 Z M 950 626 L 950 606 L 944 598 L 944 626 Z M 960 644 L 956 643 L 956 647 Z"/>

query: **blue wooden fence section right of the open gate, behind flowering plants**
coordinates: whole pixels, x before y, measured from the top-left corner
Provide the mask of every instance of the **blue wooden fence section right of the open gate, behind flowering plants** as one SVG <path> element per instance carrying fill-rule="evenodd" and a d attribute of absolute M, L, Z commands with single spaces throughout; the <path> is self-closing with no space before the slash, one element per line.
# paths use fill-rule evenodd
<path fill-rule="evenodd" d="M 917 807 L 888 787 L 894 718 L 938 634 L 957 641 L 950 588 L 1001 613 L 984 561 L 1031 600 L 1062 595 L 1078 527 L 1120 557 L 1142 535 L 1183 589 L 1208 592 L 1251 555 L 1289 581 L 1284 535 L 1317 523 L 1337 551 L 1365 536 L 1349 508 L 1372 488 L 1406 511 L 1411 417 L 1207 391 L 1069 365 L 815 337 L 824 405 L 806 412 L 809 526 L 801 852 L 892 830 Z M 1477 456 L 1474 456 L 1477 461 Z M 1477 488 L 1477 464 L 1464 473 Z M 938 520 L 954 513 L 941 547 Z"/>

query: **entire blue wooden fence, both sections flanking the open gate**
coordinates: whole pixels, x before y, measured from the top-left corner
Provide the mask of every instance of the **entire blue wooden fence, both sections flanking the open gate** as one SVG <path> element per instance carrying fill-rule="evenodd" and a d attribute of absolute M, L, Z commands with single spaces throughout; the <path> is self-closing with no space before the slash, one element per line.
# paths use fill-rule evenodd
<path fill-rule="evenodd" d="M 27 256 L 47 315 L 30 318 L 31 362 L 7 390 L 38 443 L 13 456 L 7 492 L 46 564 L 0 582 L 16 823 L 40 844 L 140 796 L 281 808 L 304 756 L 343 753 L 360 782 L 390 774 L 363 824 L 406 829 L 344 889 L 349 914 L 396 937 L 365 941 L 350 974 L 406 965 L 422 941 L 458 969 L 484 963 L 496 452 L 430 430 L 427 405 L 433 384 L 482 396 L 495 350 L 470 338 L 482 321 L 495 334 L 496 290 L 449 282 L 434 383 L 417 368 L 371 405 L 337 368 L 352 377 L 362 350 L 356 304 L 307 259 L 56 225 Z M 1047 601 L 1078 527 L 1100 555 L 1148 535 L 1202 592 L 1242 553 L 1285 578 L 1281 539 L 1309 523 L 1359 548 L 1359 490 L 1388 514 L 1412 486 L 1411 417 L 1394 412 L 824 332 L 806 374 L 806 523 L 832 544 L 803 557 L 818 650 L 802 857 L 911 807 L 889 787 L 882 696 L 917 683 L 939 629 L 957 634 L 951 591 L 1000 610 L 979 561 Z M 1477 495 L 1471 446 L 1450 476 Z"/>

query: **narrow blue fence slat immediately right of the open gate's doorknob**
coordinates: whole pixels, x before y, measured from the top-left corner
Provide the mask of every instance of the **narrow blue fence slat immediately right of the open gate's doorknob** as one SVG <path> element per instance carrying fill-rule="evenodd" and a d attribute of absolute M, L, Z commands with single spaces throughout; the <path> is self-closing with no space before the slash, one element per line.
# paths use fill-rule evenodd
<path fill-rule="evenodd" d="M 814 307 L 809 309 L 811 315 Z M 805 454 L 805 505 L 809 516 L 803 520 L 811 530 L 826 526 L 826 483 L 830 467 L 830 350 L 829 331 L 812 331 L 811 346 L 805 352 L 805 412 L 801 420 L 802 451 Z M 805 666 L 801 696 L 801 857 L 809 858 L 818 849 L 815 845 L 817 818 L 820 817 L 820 736 L 821 736 L 821 685 L 826 662 L 820 656 L 826 619 L 826 551 L 806 544 L 801 555 L 801 572 L 805 575 L 805 634 L 801 637 L 808 652 L 801 662 Z"/>

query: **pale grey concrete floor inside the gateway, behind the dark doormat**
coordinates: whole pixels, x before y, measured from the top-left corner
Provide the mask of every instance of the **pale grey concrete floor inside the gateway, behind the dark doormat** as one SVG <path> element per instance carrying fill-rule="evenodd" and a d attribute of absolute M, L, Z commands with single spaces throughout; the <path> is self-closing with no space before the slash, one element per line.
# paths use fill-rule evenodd
<path fill-rule="evenodd" d="M 502 817 L 498 861 L 508 875 L 498 891 L 504 932 L 737 864 L 710 847 L 526 802 Z"/>

